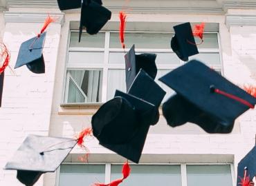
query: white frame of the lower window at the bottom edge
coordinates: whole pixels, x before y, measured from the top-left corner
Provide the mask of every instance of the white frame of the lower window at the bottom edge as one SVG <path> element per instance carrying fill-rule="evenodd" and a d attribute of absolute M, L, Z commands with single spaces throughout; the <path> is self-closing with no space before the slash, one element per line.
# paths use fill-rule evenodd
<path fill-rule="evenodd" d="M 62 163 L 62 165 L 105 165 L 105 183 L 111 182 L 111 165 L 122 165 L 122 163 Z M 180 165 L 181 166 L 181 186 L 188 186 L 187 183 L 187 165 L 230 165 L 230 176 L 232 186 L 236 185 L 234 163 L 129 163 L 129 165 Z M 60 165 L 61 167 L 61 165 Z M 60 167 L 58 167 L 55 176 L 55 186 L 60 186 Z"/>

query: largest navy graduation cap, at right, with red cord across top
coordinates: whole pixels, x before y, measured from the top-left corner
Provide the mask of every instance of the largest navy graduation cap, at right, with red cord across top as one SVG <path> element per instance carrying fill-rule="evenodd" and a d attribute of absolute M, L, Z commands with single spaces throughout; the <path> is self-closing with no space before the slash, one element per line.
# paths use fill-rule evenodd
<path fill-rule="evenodd" d="M 168 125 L 195 123 L 208 133 L 229 133 L 256 99 L 203 63 L 192 60 L 159 79 L 176 91 L 163 104 Z"/>

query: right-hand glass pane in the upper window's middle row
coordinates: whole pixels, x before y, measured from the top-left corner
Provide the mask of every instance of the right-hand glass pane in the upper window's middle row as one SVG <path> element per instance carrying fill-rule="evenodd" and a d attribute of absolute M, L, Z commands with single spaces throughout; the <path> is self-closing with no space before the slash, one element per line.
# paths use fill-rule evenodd
<path fill-rule="evenodd" d="M 211 65 L 221 65 L 219 53 L 200 53 L 190 57 L 190 60 L 197 59 L 209 67 Z"/>

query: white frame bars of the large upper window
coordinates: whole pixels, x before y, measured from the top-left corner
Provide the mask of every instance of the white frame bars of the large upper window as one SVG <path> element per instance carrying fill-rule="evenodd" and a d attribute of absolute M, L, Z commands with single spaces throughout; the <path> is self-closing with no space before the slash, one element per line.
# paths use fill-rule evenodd
<path fill-rule="evenodd" d="M 109 70 L 125 70 L 125 64 L 111 64 L 109 62 L 109 54 L 110 52 L 128 52 L 129 48 L 125 48 L 123 50 L 122 48 L 110 48 L 110 35 L 111 33 L 118 33 L 116 30 L 102 30 L 100 32 L 104 32 L 104 48 L 83 48 L 83 47 L 70 47 L 71 43 L 71 33 L 78 33 L 78 30 L 69 30 L 68 32 L 68 45 L 67 45 L 67 50 L 66 50 L 66 63 L 65 63 L 65 69 L 64 69 L 64 83 L 63 83 L 63 88 L 62 88 L 62 101 L 61 101 L 61 106 L 73 106 L 73 105 L 102 105 L 107 102 L 107 94 L 108 94 L 108 76 L 109 76 Z M 86 33 L 86 32 L 83 32 Z M 127 31 L 125 33 L 172 33 L 174 34 L 174 31 L 170 32 L 161 32 L 161 31 Z M 222 50 L 221 50 L 221 41 L 219 37 L 219 31 L 210 31 L 210 32 L 204 32 L 205 34 L 217 34 L 217 44 L 218 44 L 218 49 L 216 48 L 198 48 L 199 53 L 218 53 L 219 54 L 219 60 L 220 63 L 219 65 L 212 65 L 211 67 L 214 69 L 217 69 L 221 72 L 223 75 L 223 57 L 222 57 Z M 104 61 L 103 63 L 100 64 L 86 64 L 86 65 L 68 65 L 68 54 L 69 52 L 104 52 Z M 168 49 L 145 49 L 145 48 L 139 48 L 136 49 L 136 52 L 163 52 L 163 53 L 172 53 L 171 48 Z M 179 66 L 185 64 L 185 61 L 182 61 L 179 59 L 179 64 L 158 64 L 158 70 L 174 70 L 175 68 L 178 68 Z M 67 98 L 68 96 L 68 87 L 67 87 L 67 72 L 68 70 L 102 70 L 102 93 L 101 93 L 101 101 L 100 102 L 94 102 L 94 103 L 67 103 Z"/>

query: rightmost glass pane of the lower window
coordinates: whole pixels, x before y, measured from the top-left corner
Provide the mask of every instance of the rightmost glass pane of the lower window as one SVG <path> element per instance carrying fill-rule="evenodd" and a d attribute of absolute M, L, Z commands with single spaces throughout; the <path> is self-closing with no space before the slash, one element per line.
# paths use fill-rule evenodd
<path fill-rule="evenodd" d="M 232 186 L 230 165 L 187 165 L 188 186 Z"/>

